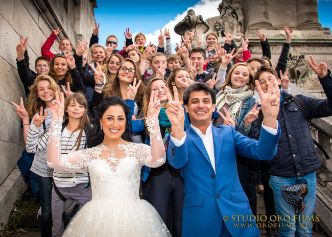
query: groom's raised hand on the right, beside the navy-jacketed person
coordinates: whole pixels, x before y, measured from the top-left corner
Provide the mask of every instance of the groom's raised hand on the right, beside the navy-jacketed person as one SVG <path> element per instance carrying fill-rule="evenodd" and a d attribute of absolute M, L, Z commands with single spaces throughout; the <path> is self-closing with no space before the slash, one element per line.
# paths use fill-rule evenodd
<path fill-rule="evenodd" d="M 279 113 L 280 90 L 275 78 L 271 79 L 268 91 L 265 93 L 260 87 L 259 81 L 255 80 L 256 90 L 260 96 L 260 104 L 264 115 L 264 125 L 276 128 L 276 119 Z"/>

